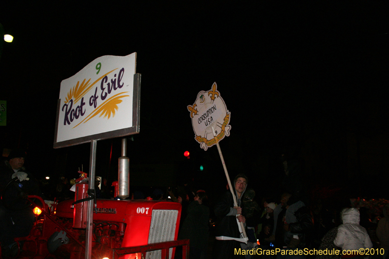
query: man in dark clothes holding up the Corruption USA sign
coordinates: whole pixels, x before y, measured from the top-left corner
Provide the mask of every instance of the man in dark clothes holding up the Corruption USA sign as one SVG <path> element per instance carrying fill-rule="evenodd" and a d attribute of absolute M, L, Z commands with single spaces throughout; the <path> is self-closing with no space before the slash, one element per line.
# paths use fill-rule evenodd
<path fill-rule="evenodd" d="M 245 174 L 238 174 L 234 179 L 234 189 L 237 199 L 237 207 L 234 207 L 232 193 L 227 191 L 215 204 L 214 212 L 217 217 L 216 240 L 213 247 L 213 259 L 240 258 L 243 255 L 235 255 L 235 248 L 241 248 L 242 230 L 237 222 L 246 222 L 242 213 L 241 199 L 247 188 L 248 178 Z"/>

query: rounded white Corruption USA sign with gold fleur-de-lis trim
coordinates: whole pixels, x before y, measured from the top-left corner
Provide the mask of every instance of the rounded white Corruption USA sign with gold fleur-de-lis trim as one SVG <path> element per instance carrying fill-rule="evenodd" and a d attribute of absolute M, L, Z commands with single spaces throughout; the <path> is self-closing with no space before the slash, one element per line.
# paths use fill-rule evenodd
<path fill-rule="evenodd" d="M 195 139 L 200 143 L 200 147 L 207 150 L 222 140 L 230 136 L 230 112 L 226 103 L 217 91 L 216 82 L 213 83 L 209 91 L 200 91 L 197 94 L 195 103 L 188 105 L 192 126 L 195 131 Z M 212 133 L 212 128 L 214 133 Z"/>

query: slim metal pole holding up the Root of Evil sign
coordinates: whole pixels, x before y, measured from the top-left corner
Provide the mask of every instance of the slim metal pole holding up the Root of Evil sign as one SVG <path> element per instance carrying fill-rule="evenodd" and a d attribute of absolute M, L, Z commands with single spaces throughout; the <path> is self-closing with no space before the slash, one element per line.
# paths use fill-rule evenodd
<path fill-rule="evenodd" d="M 96 145 L 97 140 L 90 142 L 90 157 L 89 157 L 89 190 L 94 190 L 94 178 L 96 171 Z M 92 258 L 92 234 L 93 234 L 93 205 L 94 199 L 88 201 L 88 220 L 87 233 L 85 244 L 85 258 Z"/>

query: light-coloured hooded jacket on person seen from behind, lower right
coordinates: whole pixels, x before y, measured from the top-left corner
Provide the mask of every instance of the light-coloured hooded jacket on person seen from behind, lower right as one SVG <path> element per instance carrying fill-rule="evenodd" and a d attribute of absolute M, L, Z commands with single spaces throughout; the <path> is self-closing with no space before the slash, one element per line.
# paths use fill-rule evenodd
<path fill-rule="evenodd" d="M 337 229 L 334 244 L 343 250 L 357 250 L 360 248 L 371 248 L 368 232 L 359 225 L 359 211 L 356 208 L 345 208 L 342 211 L 341 224 Z"/>

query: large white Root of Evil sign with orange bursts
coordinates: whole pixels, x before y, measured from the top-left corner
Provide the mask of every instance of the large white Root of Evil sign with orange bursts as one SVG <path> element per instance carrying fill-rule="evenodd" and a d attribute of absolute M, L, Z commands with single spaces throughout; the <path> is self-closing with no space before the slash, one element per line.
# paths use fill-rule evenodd
<path fill-rule="evenodd" d="M 54 147 L 138 133 L 139 119 L 133 118 L 138 117 L 140 94 L 134 88 L 135 70 L 136 53 L 106 55 L 63 80 Z"/>

